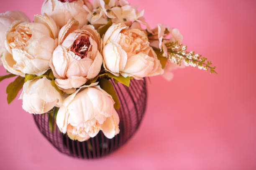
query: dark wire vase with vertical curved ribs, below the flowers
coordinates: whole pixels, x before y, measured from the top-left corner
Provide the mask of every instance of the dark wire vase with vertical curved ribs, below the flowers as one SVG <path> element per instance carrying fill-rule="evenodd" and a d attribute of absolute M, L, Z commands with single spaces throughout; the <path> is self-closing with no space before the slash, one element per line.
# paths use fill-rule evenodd
<path fill-rule="evenodd" d="M 52 116 L 50 113 L 33 115 L 38 129 L 61 153 L 75 158 L 100 158 L 120 148 L 136 132 L 146 110 L 146 80 L 133 79 L 130 87 L 120 83 L 115 84 L 113 80 L 111 82 L 120 102 L 120 110 L 117 110 L 120 118 L 120 133 L 113 139 L 106 138 L 100 131 L 94 138 L 84 142 L 70 140 L 66 134 L 59 131 L 54 121 L 56 115 Z"/>

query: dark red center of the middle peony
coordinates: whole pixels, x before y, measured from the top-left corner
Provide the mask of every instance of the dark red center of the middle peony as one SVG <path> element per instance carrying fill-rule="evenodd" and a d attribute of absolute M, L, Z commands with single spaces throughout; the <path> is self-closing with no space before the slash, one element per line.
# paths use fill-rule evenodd
<path fill-rule="evenodd" d="M 73 45 L 70 47 L 70 51 L 83 59 L 86 57 L 90 45 L 89 37 L 80 37 L 74 41 Z"/>

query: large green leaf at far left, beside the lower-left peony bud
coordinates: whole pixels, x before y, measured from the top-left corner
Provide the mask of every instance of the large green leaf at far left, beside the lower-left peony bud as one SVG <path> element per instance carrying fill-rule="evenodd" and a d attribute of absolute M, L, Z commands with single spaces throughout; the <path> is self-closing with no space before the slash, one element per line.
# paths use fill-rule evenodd
<path fill-rule="evenodd" d="M 7 88 L 6 88 L 6 93 L 7 93 L 7 102 L 10 104 L 15 97 L 18 95 L 18 92 L 20 89 L 23 87 L 23 84 L 25 78 L 18 76 L 13 82 L 11 82 Z"/>

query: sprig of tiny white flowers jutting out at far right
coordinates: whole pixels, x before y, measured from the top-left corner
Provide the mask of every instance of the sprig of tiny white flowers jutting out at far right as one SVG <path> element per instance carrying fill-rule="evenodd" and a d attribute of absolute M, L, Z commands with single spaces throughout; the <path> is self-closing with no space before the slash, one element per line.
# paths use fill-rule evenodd
<path fill-rule="evenodd" d="M 187 45 L 179 42 L 168 42 L 165 44 L 168 51 L 168 59 L 175 64 L 181 65 L 182 62 L 185 66 L 198 67 L 200 70 L 210 70 L 210 73 L 216 73 L 215 66 L 206 57 L 196 54 L 195 51 L 187 52 Z"/>

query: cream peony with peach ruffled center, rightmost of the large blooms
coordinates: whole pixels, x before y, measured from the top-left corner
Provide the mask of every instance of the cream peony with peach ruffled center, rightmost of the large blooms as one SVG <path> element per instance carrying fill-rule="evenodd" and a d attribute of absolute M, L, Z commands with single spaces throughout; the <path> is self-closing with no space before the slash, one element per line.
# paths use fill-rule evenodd
<path fill-rule="evenodd" d="M 103 66 L 114 75 L 135 77 L 160 75 L 164 71 L 156 53 L 149 46 L 145 32 L 113 24 L 103 37 Z"/>

